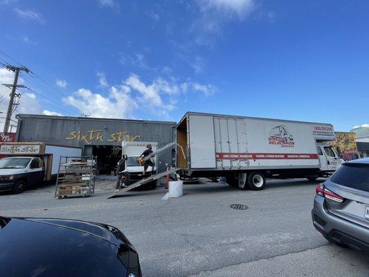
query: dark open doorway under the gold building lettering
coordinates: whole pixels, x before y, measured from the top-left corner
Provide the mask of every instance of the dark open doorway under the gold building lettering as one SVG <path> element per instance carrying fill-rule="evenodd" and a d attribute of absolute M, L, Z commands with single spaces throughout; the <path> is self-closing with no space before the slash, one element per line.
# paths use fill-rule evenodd
<path fill-rule="evenodd" d="M 98 157 L 99 175 L 114 175 L 116 165 L 122 156 L 122 149 L 114 145 L 93 145 L 93 156 Z"/>

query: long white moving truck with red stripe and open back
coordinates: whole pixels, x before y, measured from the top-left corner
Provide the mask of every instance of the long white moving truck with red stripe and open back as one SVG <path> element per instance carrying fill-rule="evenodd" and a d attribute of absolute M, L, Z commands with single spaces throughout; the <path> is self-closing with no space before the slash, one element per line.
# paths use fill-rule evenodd
<path fill-rule="evenodd" d="M 177 125 L 180 175 L 226 177 L 231 186 L 261 190 L 266 177 L 327 177 L 342 163 L 326 141 L 333 126 L 292 120 L 188 112 Z"/>

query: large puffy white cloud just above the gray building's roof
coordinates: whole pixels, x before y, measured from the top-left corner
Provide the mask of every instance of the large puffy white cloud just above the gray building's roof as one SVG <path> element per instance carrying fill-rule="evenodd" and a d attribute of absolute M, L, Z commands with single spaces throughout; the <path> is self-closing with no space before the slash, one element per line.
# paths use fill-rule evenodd
<path fill-rule="evenodd" d="M 138 75 L 131 74 L 123 80 L 123 84 L 109 87 L 107 95 L 89 89 L 78 89 L 63 100 L 93 117 L 134 118 L 136 111 L 143 111 L 169 118 L 168 113 L 176 108 L 181 94 L 199 92 L 204 96 L 211 96 L 216 91 L 217 87 L 211 84 L 199 84 L 190 80 L 178 82 L 173 78 L 156 78 L 152 82 L 145 82 Z"/>

